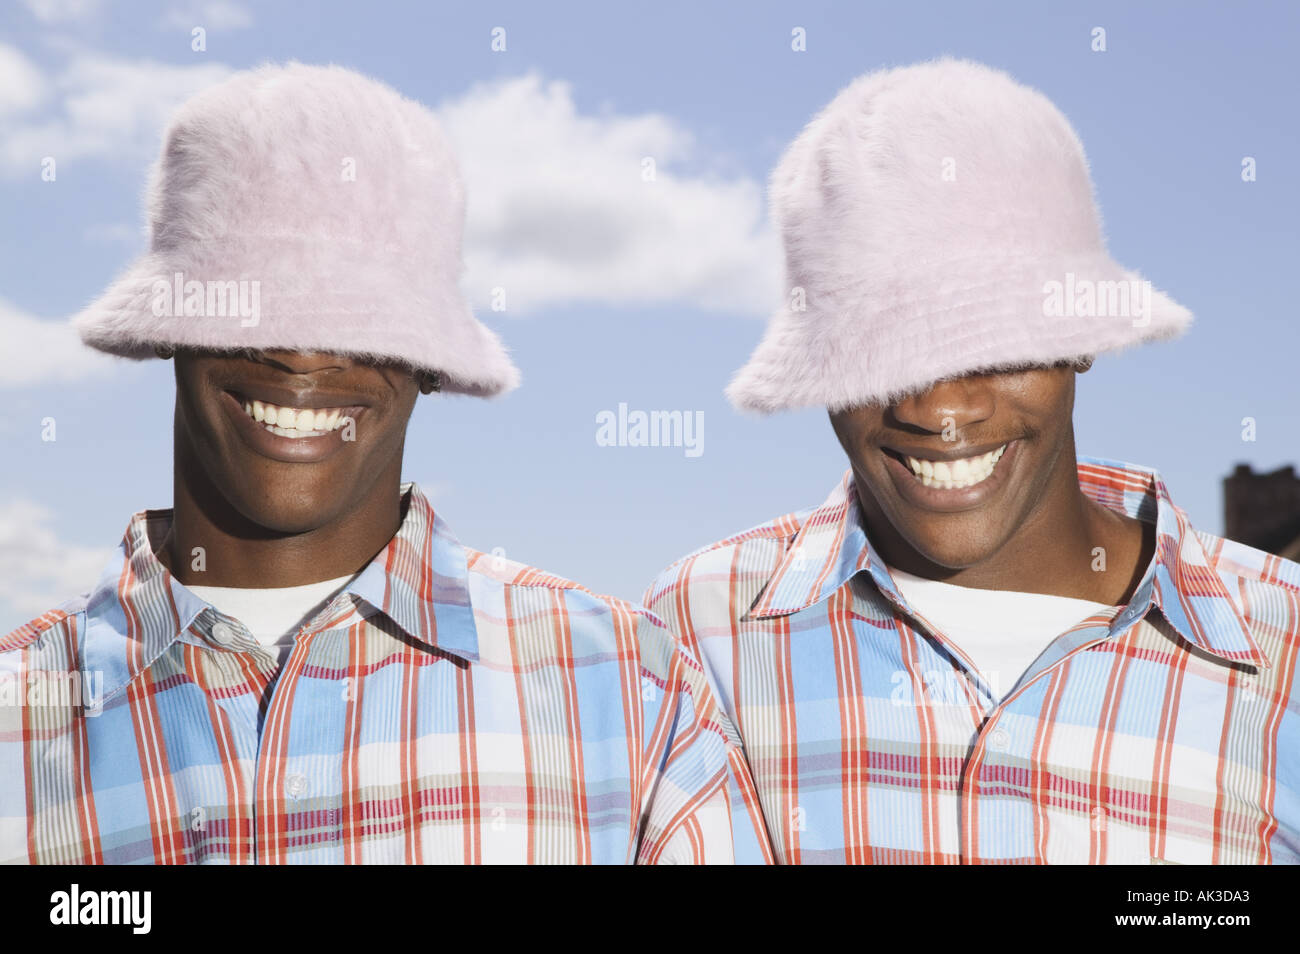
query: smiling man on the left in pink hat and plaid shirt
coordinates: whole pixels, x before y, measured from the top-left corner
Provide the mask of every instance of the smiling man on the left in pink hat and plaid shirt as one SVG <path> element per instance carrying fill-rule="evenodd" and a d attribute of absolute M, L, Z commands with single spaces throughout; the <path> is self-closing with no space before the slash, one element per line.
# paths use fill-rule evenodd
<path fill-rule="evenodd" d="M 0 862 L 731 860 L 699 663 L 400 482 L 421 391 L 517 381 L 463 207 L 433 116 L 341 68 L 176 116 L 151 250 L 77 318 L 174 356 L 174 506 L 0 639 Z"/>

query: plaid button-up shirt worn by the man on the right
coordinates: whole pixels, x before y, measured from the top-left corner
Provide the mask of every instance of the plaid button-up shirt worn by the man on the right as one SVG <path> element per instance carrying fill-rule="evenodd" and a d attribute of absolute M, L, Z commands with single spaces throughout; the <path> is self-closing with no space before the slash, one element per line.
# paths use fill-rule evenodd
<path fill-rule="evenodd" d="M 1193 530 L 1152 471 L 1078 471 L 1157 550 L 1004 698 L 898 593 L 852 474 L 659 576 L 744 747 L 742 860 L 1300 862 L 1300 565 Z"/>

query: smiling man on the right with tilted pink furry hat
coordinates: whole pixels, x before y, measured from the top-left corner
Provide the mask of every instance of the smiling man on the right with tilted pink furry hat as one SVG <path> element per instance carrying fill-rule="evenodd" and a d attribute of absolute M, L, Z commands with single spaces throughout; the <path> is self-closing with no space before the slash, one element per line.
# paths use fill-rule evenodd
<path fill-rule="evenodd" d="M 744 749 L 749 860 L 1300 862 L 1300 567 L 1075 454 L 1075 374 L 1191 316 L 1110 260 L 1065 117 L 866 75 L 772 201 L 790 298 L 728 395 L 827 408 L 849 471 L 645 600 Z"/>

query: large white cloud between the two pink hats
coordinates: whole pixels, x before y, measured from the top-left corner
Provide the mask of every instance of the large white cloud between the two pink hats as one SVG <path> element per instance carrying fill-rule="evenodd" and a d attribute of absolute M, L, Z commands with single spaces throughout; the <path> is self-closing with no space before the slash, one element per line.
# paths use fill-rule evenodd
<path fill-rule="evenodd" d="M 497 286 L 507 313 L 681 302 L 766 315 L 776 302 L 762 186 L 681 172 L 698 156 L 672 118 L 580 114 L 567 83 L 536 75 L 476 86 L 438 112 L 465 175 L 467 287 L 480 307 Z"/>

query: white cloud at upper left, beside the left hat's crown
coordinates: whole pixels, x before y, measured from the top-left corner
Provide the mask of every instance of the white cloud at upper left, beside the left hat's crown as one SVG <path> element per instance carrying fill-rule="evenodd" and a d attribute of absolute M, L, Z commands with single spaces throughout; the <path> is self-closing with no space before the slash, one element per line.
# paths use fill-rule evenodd
<path fill-rule="evenodd" d="M 53 104 L 10 122 L 0 140 L 0 174 L 36 175 L 44 156 L 140 161 L 159 151 L 172 110 L 230 68 L 216 62 L 177 66 L 77 52 L 42 95 Z"/>

